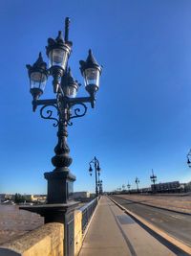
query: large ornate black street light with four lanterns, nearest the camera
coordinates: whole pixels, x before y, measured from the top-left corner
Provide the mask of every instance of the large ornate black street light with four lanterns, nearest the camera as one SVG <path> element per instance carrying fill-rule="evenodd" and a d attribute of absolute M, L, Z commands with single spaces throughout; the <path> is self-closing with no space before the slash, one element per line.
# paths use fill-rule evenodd
<path fill-rule="evenodd" d="M 96 62 L 91 50 L 86 61 L 80 60 L 80 71 L 85 81 L 85 88 L 89 93 L 87 97 L 75 98 L 79 83 L 74 80 L 68 60 L 71 56 L 73 43 L 69 40 L 70 19 L 65 19 L 65 37 L 58 32 L 55 39 L 49 38 L 46 54 L 49 58 L 49 67 L 39 54 L 33 65 L 27 65 L 30 78 L 30 91 L 32 93 L 32 109 L 40 108 L 40 116 L 44 119 L 53 120 L 53 127 L 57 127 L 58 142 L 54 148 L 55 155 L 52 158 L 53 172 L 45 173 L 48 180 L 47 203 L 67 203 L 73 193 L 75 176 L 71 174 L 69 166 L 73 159 L 69 155 L 70 149 L 67 144 L 67 127 L 72 126 L 72 119 L 86 114 L 87 106 L 92 107 L 96 102 L 96 91 L 99 87 L 101 67 Z M 42 96 L 46 82 L 53 77 L 53 99 L 39 100 Z M 78 105 L 78 106 L 75 106 Z M 53 116 L 53 109 L 57 116 Z"/>

